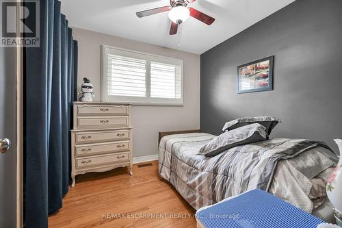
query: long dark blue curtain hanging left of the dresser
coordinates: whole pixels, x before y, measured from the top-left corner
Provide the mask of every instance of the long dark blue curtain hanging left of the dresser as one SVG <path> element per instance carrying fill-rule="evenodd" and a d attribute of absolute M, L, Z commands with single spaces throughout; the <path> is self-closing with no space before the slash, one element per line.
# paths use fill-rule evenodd
<path fill-rule="evenodd" d="M 48 227 L 70 177 L 77 41 L 57 0 L 40 1 L 40 47 L 25 49 L 25 227 Z"/>

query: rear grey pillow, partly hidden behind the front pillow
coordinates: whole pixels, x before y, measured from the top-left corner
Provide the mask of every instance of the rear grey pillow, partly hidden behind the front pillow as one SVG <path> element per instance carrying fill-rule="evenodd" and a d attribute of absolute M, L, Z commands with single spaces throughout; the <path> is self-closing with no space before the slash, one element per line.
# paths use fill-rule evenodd
<path fill-rule="evenodd" d="M 276 127 L 278 123 L 281 123 L 279 118 L 274 118 L 272 116 L 254 116 L 254 117 L 242 117 L 237 118 L 234 121 L 229 121 L 224 124 L 222 131 L 231 131 L 237 127 L 242 127 L 244 125 L 250 125 L 251 123 L 259 123 L 266 127 L 266 132 L 268 135 L 271 134 L 272 129 Z"/>

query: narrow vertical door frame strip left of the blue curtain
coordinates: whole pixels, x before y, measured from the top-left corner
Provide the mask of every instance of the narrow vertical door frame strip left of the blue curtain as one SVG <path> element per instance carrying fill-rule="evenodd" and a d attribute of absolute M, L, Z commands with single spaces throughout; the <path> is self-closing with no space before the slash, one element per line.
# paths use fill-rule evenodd
<path fill-rule="evenodd" d="M 16 0 L 21 2 L 21 0 Z M 21 7 L 16 15 L 23 15 Z M 16 34 L 19 37 L 22 23 L 16 21 Z M 23 228 L 23 47 L 16 47 L 16 227 Z"/>

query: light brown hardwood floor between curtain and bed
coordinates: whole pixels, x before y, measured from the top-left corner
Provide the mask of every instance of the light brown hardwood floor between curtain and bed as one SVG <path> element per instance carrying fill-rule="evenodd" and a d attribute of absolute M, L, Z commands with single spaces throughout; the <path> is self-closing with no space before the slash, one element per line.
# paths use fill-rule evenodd
<path fill-rule="evenodd" d="M 159 179 L 157 161 L 150 163 L 135 164 L 133 176 L 127 168 L 77 176 L 49 227 L 196 227 L 195 210 Z"/>

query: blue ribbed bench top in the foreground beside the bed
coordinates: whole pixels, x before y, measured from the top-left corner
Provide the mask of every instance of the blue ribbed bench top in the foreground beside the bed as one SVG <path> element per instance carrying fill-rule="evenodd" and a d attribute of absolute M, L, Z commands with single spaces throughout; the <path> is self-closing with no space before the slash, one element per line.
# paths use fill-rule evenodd
<path fill-rule="evenodd" d="M 205 228 L 315 228 L 323 220 L 263 190 L 251 190 L 196 212 Z"/>

